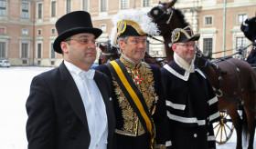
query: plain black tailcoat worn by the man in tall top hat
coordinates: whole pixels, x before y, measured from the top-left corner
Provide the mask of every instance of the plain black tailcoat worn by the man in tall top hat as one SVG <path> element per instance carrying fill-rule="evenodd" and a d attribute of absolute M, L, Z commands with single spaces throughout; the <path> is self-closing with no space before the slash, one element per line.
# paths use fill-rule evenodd
<path fill-rule="evenodd" d="M 108 149 L 112 149 L 114 114 L 110 101 L 110 82 L 95 72 L 108 117 Z M 28 149 L 86 149 L 90 132 L 80 92 L 62 63 L 59 67 L 33 78 L 27 98 Z"/>

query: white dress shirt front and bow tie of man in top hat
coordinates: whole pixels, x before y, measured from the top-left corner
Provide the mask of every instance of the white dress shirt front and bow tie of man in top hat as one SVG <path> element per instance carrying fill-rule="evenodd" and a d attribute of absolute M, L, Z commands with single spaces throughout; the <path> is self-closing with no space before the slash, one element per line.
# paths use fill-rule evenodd
<path fill-rule="evenodd" d="M 87 72 L 64 60 L 80 92 L 86 111 L 86 117 L 91 134 L 89 149 L 106 149 L 108 144 L 108 120 L 106 107 L 101 92 L 93 80 L 95 70 Z"/>

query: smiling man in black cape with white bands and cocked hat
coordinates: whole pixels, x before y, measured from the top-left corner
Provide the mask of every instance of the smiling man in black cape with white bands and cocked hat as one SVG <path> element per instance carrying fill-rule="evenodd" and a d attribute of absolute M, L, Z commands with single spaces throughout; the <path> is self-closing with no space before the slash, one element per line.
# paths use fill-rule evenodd
<path fill-rule="evenodd" d="M 168 117 L 166 148 L 215 148 L 212 123 L 219 118 L 218 99 L 206 75 L 194 65 L 199 37 L 190 26 L 176 28 L 170 44 L 174 61 L 161 68 Z"/>

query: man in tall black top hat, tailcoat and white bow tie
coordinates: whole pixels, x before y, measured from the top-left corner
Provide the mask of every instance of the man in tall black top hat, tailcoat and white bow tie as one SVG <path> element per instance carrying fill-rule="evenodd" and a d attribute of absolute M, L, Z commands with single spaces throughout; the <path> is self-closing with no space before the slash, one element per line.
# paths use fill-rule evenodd
<path fill-rule="evenodd" d="M 110 80 L 91 70 L 96 58 L 93 28 L 84 11 L 56 23 L 59 67 L 33 78 L 27 98 L 28 149 L 112 149 L 114 113 Z"/>

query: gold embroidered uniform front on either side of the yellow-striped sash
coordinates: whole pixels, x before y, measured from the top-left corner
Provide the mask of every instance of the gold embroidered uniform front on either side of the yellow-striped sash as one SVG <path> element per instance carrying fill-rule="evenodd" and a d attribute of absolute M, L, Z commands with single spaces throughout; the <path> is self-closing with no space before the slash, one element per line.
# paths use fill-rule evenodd
<path fill-rule="evenodd" d="M 145 104 L 150 110 L 154 104 L 155 98 L 155 88 L 154 88 L 154 78 L 153 73 L 149 65 L 144 62 L 139 63 L 138 65 L 134 65 L 133 63 L 127 61 L 120 57 L 121 62 L 125 65 L 126 70 L 129 75 L 131 75 L 133 82 L 137 85 L 138 89 L 144 96 Z M 132 106 L 129 104 L 127 99 L 125 98 L 120 86 L 115 81 L 114 77 L 113 84 L 115 87 L 115 94 L 117 95 L 117 99 L 119 102 L 119 106 L 122 109 L 123 115 L 123 128 L 115 129 L 115 133 L 124 134 L 130 136 L 142 135 L 145 133 L 143 125 L 140 123 L 137 114 L 133 112 Z"/>

